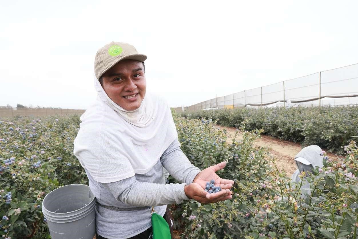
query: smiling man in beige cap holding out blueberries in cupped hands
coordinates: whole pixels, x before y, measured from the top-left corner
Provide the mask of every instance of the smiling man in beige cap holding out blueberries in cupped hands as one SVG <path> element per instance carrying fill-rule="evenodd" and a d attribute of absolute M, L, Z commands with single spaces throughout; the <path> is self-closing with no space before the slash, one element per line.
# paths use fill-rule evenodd
<path fill-rule="evenodd" d="M 81 116 L 74 154 L 94 193 L 98 238 L 151 238 L 151 207 L 169 222 L 168 204 L 231 199 L 222 162 L 200 171 L 180 149 L 171 111 L 146 92 L 144 61 L 127 43 L 111 42 L 95 58 L 97 99 Z M 163 166 L 177 184 L 165 184 Z M 220 192 L 204 191 L 215 180 Z"/>

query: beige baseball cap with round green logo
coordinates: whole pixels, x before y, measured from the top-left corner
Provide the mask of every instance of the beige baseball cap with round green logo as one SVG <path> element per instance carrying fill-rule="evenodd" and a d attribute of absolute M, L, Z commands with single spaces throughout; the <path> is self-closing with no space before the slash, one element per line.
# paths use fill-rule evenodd
<path fill-rule="evenodd" d="M 97 51 L 95 58 L 95 75 L 99 79 L 106 71 L 119 61 L 131 59 L 144 62 L 146 55 L 139 54 L 134 46 L 123 42 L 111 42 Z"/>

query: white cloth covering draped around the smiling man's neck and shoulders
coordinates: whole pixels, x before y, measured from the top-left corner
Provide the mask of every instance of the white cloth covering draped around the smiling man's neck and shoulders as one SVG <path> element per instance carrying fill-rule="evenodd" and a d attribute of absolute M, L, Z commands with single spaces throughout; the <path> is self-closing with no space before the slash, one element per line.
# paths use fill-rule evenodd
<path fill-rule="evenodd" d="M 146 92 L 140 107 L 127 111 L 94 81 L 97 99 L 80 118 L 74 155 L 98 182 L 148 172 L 178 138 L 169 105 Z"/>

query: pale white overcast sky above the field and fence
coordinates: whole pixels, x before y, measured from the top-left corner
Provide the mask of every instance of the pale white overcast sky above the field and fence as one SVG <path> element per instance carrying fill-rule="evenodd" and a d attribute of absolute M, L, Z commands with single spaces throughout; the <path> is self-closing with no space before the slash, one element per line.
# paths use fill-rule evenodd
<path fill-rule="evenodd" d="M 1 1 L 0 106 L 86 109 L 98 48 L 148 56 L 170 106 L 358 63 L 358 1 Z"/>

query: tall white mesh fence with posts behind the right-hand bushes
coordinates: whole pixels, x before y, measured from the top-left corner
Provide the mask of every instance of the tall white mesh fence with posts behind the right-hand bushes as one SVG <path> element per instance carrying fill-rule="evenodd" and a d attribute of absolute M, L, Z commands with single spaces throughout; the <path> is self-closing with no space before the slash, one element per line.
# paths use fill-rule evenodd
<path fill-rule="evenodd" d="M 357 105 L 358 64 L 217 97 L 185 109 L 285 106 L 287 102 L 302 106 Z"/>

